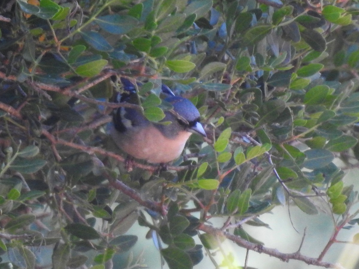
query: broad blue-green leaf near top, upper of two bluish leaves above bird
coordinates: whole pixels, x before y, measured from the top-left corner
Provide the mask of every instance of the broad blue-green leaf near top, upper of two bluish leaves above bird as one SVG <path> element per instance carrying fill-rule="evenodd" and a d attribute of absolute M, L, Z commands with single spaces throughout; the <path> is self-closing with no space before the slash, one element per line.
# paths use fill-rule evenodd
<path fill-rule="evenodd" d="M 111 34 L 126 34 L 137 26 L 138 20 L 129 15 L 111 14 L 95 18 L 95 23 Z"/>

